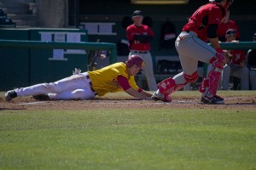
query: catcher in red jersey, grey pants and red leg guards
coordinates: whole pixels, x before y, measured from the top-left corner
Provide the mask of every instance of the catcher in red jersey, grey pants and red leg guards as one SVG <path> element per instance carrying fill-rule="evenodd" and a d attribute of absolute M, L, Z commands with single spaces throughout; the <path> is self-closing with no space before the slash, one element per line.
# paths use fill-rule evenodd
<path fill-rule="evenodd" d="M 171 101 L 169 94 L 188 83 L 195 82 L 198 78 L 197 65 L 200 60 L 209 64 L 207 77 L 201 82 L 201 102 L 224 104 L 224 99 L 216 95 L 218 82 L 226 63 L 224 51 L 218 43 L 217 30 L 231 3 L 233 0 L 209 0 L 209 3 L 192 14 L 175 42 L 183 72 L 160 82 L 158 90 L 152 96 L 153 99 Z M 211 42 L 212 47 L 207 44 L 208 41 Z"/>

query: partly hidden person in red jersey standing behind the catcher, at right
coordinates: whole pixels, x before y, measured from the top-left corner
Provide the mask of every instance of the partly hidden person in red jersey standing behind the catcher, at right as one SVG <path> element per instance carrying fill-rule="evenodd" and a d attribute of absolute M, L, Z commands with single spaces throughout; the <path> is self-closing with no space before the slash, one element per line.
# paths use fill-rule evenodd
<path fill-rule="evenodd" d="M 227 11 L 223 22 L 218 26 L 218 40 L 220 42 L 226 42 L 226 31 L 229 29 L 236 30 L 236 40 L 240 39 L 240 32 L 238 30 L 238 26 L 234 20 L 230 20 L 230 10 Z"/>

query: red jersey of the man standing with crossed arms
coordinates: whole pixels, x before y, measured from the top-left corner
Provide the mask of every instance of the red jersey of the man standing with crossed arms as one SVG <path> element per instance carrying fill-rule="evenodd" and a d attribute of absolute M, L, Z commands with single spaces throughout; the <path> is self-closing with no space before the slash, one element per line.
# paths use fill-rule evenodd
<path fill-rule="evenodd" d="M 138 51 L 149 51 L 150 44 L 148 42 L 140 42 L 134 40 L 133 37 L 135 35 L 144 35 L 144 36 L 154 36 L 154 32 L 151 30 L 149 26 L 135 26 L 132 24 L 126 28 L 126 37 L 128 38 L 130 43 L 131 50 L 138 50 Z"/>

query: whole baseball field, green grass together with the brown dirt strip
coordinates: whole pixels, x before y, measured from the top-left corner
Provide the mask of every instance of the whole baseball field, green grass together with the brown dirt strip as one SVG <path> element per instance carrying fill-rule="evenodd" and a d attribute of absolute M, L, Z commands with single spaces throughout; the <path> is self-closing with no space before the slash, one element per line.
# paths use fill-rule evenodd
<path fill-rule="evenodd" d="M 256 91 L 197 91 L 172 103 L 108 94 L 37 101 L 0 93 L 0 169 L 256 169 Z"/>

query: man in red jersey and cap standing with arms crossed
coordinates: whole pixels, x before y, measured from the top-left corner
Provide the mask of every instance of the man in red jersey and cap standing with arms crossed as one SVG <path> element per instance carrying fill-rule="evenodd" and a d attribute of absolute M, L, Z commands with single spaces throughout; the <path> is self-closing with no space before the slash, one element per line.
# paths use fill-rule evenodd
<path fill-rule="evenodd" d="M 136 10 L 133 12 L 132 20 L 134 24 L 126 28 L 126 36 L 130 42 L 130 54 L 139 54 L 145 61 L 143 73 L 145 74 L 148 81 L 148 88 L 150 91 L 157 89 L 153 62 L 150 54 L 150 44 L 154 38 L 154 32 L 149 26 L 143 25 L 143 14 L 142 11 Z"/>

